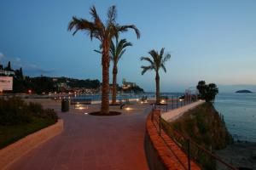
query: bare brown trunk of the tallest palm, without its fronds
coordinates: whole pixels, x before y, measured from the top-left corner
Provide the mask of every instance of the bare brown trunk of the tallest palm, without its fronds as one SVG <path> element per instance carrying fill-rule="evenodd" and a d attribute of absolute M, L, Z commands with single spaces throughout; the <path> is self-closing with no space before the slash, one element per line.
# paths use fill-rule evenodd
<path fill-rule="evenodd" d="M 103 43 L 102 53 L 102 114 L 109 113 L 109 53 L 108 44 Z"/>

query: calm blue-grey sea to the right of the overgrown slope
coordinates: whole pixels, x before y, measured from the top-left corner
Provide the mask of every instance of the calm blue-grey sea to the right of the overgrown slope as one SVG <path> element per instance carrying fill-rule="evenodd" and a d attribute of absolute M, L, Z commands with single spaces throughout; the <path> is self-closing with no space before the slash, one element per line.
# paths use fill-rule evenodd
<path fill-rule="evenodd" d="M 214 105 L 234 139 L 256 142 L 256 94 L 218 94 Z"/>

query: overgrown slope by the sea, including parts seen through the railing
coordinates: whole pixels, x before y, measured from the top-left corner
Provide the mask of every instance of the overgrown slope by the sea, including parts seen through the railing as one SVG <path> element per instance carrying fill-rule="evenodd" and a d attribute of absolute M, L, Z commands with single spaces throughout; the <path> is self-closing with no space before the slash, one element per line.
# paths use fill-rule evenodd
<path fill-rule="evenodd" d="M 224 149 L 227 144 L 233 143 L 232 136 L 225 127 L 223 116 L 218 114 L 212 103 L 199 105 L 195 109 L 184 113 L 174 122 L 163 121 L 162 124 L 166 133 L 176 139 L 179 144 L 182 144 L 184 151 L 187 150 L 187 141 L 175 135 L 172 128 L 213 152 L 214 150 Z M 216 161 L 212 159 L 212 156 L 208 156 L 204 151 L 199 150 L 193 143 L 190 143 L 190 156 L 203 167 L 202 169 L 215 169 Z"/>

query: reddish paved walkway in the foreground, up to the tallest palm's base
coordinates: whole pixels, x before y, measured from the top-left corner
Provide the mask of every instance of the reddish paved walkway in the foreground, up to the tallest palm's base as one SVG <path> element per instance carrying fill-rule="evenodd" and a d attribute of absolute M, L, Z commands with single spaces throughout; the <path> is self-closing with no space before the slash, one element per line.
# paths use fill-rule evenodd
<path fill-rule="evenodd" d="M 63 133 L 9 169 L 148 169 L 143 146 L 148 111 L 120 116 L 60 113 Z"/>

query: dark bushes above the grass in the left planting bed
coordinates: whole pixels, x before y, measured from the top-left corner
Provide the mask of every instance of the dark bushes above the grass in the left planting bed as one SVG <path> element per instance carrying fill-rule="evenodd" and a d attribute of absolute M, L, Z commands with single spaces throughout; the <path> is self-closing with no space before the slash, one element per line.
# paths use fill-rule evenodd
<path fill-rule="evenodd" d="M 57 121 L 55 111 L 36 103 L 26 104 L 22 99 L 0 99 L 0 125 L 20 125 L 32 122 L 34 117 Z"/>

